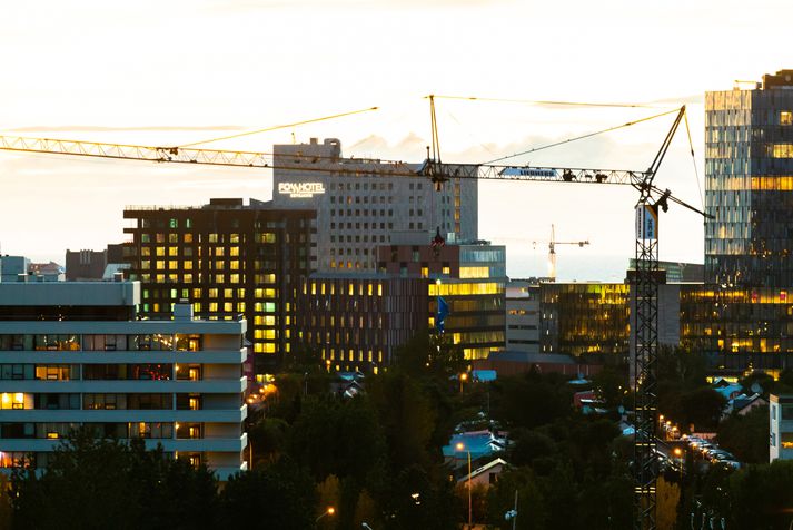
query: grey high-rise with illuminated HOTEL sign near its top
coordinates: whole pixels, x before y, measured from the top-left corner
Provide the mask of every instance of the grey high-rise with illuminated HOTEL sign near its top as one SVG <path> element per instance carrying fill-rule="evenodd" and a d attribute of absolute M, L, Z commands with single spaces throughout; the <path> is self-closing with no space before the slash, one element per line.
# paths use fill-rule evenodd
<path fill-rule="evenodd" d="M 427 177 L 405 176 L 419 165 L 343 158 L 337 139 L 276 145 L 274 153 L 275 206 L 317 212 L 319 272 L 376 272 L 375 248 L 402 234 L 477 238 L 476 179 L 452 178 L 436 192 Z"/>

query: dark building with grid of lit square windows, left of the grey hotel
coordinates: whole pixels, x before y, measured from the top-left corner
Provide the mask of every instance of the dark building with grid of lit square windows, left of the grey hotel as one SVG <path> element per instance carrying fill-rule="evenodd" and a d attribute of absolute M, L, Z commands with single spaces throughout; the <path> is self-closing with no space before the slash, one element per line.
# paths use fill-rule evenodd
<path fill-rule="evenodd" d="M 250 199 L 211 199 L 198 207 L 132 206 L 125 233 L 130 279 L 141 283 L 142 316 L 167 318 L 186 300 L 206 320 L 246 315 L 257 373 L 290 351 L 294 301 L 315 267 L 310 209 Z"/>

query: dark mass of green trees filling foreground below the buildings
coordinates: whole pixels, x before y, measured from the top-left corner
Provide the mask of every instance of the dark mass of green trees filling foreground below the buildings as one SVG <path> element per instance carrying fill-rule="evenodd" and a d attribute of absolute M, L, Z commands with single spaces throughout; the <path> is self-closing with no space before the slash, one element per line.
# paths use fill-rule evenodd
<path fill-rule="evenodd" d="M 417 337 L 349 399 L 331 391 L 333 376 L 306 352 L 295 362 L 299 370 L 279 375 L 277 393 L 251 411 L 254 470 L 225 484 L 140 441 L 78 432 L 44 472 L 14 473 L 10 494 L 0 498 L 0 522 L 8 526 L 10 511 L 19 529 L 458 529 L 468 492 L 454 477 L 464 470 L 444 461 L 442 446 L 466 422 L 508 433 L 511 442 L 500 454 L 509 468 L 490 488 L 472 491 L 475 522 L 512 528 L 504 514 L 517 493 L 518 529 L 631 528 L 633 444 L 619 435 L 616 412 L 632 404 L 626 367 L 607 367 L 584 389 L 536 372 L 460 387 L 458 353 Z M 717 429 L 724 448 L 759 463 L 732 471 L 688 451 L 685 473 L 664 477 L 663 528 L 687 529 L 692 513 L 724 517 L 726 528 L 780 528 L 782 510 L 793 506 L 793 467 L 762 463 L 767 409 L 721 419 L 723 398 L 705 384 L 702 359 L 686 352 L 664 351 L 658 374 L 663 413 L 684 428 Z M 793 373 L 744 383 L 785 389 Z M 606 414 L 573 406 L 573 394 L 589 389 Z M 329 506 L 335 513 L 319 518 Z"/>

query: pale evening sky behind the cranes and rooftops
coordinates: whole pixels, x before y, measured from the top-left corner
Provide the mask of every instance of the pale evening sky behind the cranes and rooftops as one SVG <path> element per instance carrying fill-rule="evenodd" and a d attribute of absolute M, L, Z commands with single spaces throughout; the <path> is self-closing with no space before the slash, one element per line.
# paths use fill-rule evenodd
<path fill-rule="evenodd" d="M 789 1 L 139 0 L 2 2 L 0 134 L 145 145 L 190 141 L 371 106 L 334 121 L 210 144 L 270 151 L 335 137 L 346 156 L 419 161 L 427 94 L 647 104 L 543 107 L 438 100 L 445 161 L 484 161 L 687 104 L 700 183 L 703 94 L 793 68 Z M 672 117 L 548 149 L 519 164 L 643 170 Z M 125 205 L 271 195 L 252 169 L 0 151 L 0 249 L 63 263 L 123 239 Z M 685 129 L 657 177 L 701 205 Z M 635 192 L 482 183 L 479 234 L 508 245 L 513 276 L 622 279 Z M 662 259 L 702 263 L 702 220 L 664 215 Z"/>

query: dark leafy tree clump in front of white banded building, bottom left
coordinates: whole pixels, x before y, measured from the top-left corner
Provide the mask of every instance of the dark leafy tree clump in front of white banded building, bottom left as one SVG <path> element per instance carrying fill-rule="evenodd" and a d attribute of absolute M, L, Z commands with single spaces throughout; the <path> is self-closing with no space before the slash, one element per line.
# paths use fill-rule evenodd
<path fill-rule="evenodd" d="M 12 501 L 18 528 L 212 528 L 215 475 L 130 444 L 98 440 L 81 429 L 51 453 L 40 474 L 14 470 Z M 68 514 L 68 517 L 65 517 Z"/>

